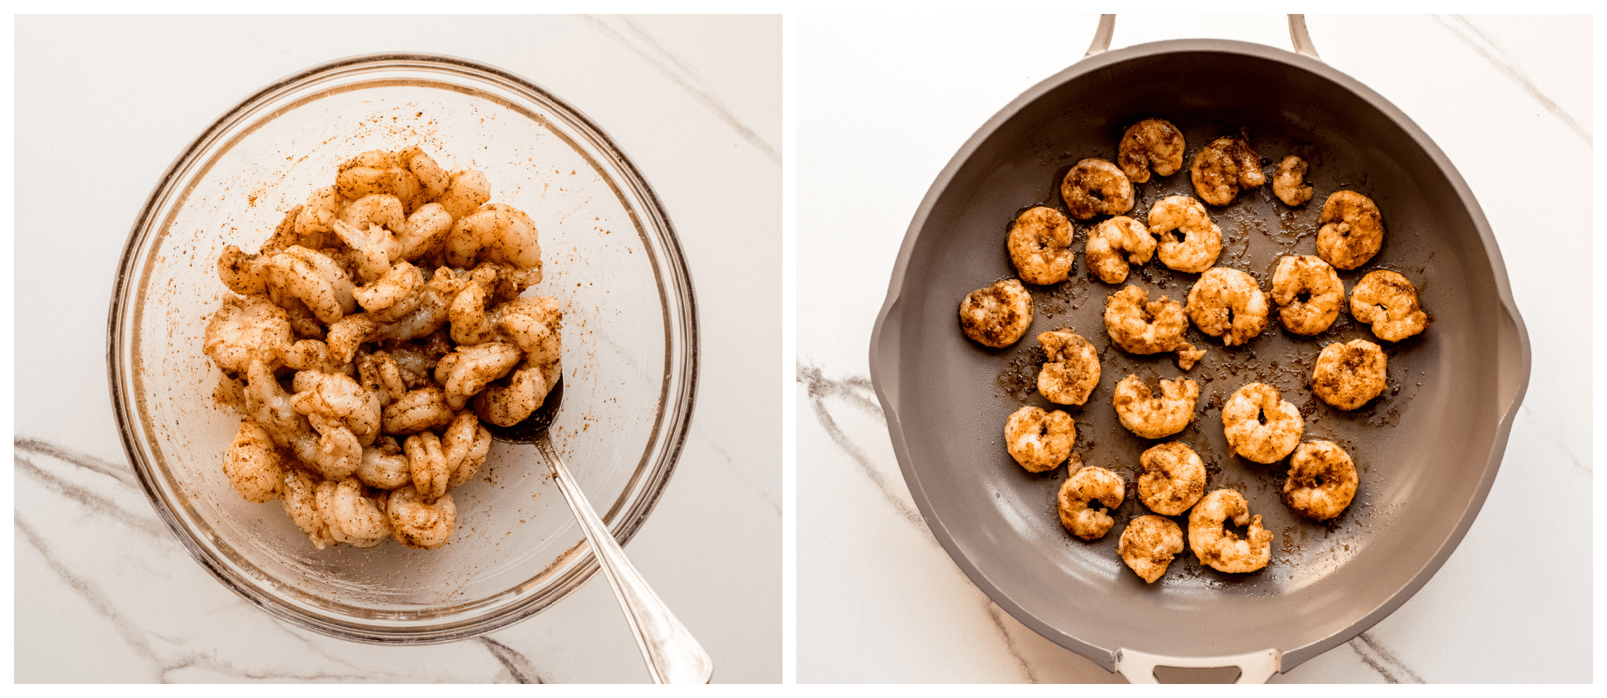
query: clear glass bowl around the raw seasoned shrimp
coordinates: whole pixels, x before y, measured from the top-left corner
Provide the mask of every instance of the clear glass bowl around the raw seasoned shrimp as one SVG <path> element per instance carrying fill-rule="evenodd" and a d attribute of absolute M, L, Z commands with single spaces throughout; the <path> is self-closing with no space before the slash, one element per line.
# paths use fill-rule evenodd
<path fill-rule="evenodd" d="M 228 294 L 223 247 L 259 249 L 283 212 L 371 149 L 419 144 L 476 168 L 492 201 L 540 231 L 564 308 L 564 404 L 553 440 L 625 542 L 669 481 L 697 382 L 697 313 L 680 242 L 652 189 L 585 116 L 525 79 L 429 55 L 347 58 L 286 77 L 223 114 L 167 168 L 119 265 L 108 364 L 124 448 L 151 504 L 223 586 L 334 637 L 447 642 L 556 603 L 598 570 L 532 446 L 495 443 L 453 489 L 452 542 L 318 550 L 280 501 L 223 475 L 239 417 L 212 401 L 201 353 Z"/>

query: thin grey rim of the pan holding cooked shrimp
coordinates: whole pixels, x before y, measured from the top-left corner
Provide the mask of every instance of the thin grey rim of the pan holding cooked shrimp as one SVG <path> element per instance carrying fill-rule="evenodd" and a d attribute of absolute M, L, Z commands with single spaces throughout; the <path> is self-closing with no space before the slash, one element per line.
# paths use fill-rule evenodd
<path fill-rule="evenodd" d="M 906 271 L 910 258 L 916 249 L 921 231 L 926 229 L 927 220 L 937 205 L 938 199 L 948 191 L 956 173 L 977 154 L 980 146 L 987 138 L 1000 130 L 1011 119 L 1019 116 L 1024 109 L 1041 99 L 1051 90 L 1061 85 L 1080 79 L 1086 74 L 1118 66 L 1127 61 L 1136 61 L 1151 56 L 1163 55 L 1183 55 L 1183 53 L 1229 53 L 1237 56 L 1258 58 L 1274 63 L 1282 63 L 1290 67 L 1315 74 L 1334 83 L 1337 88 L 1347 90 L 1356 98 L 1363 99 L 1374 111 L 1393 122 L 1406 136 L 1409 136 L 1422 152 L 1433 162 L 1433 165 L 1441 172 L 1451 191 L 1456 193 L 1458 201 L 1467 209 L 1469 218 L 1478 234 L 1483 246 L 1483 252 L 1488 258 L 1490 270 L 1493 274 L 1493 286 L 1496 289 L 1496 298 L 1499 308 L 1504 311 L 1509 331 L 1512 332 L 1511 340 L 1519 348 L 1519 366 L 1515 367 L 1515 375 L 1509 379 L 1515 380 L 1515 390 L 1512 392 L 1511 403 L 1506 404 L 1501 412 L 1501 419 L 1496 424 L 1495 438 L 1490 446 L 1490 454 L 1485 461 L 1483 473 L 1480 477 L 1478 486 L 1474 491 L 1472 499 L 1467 507 L 1461 512 L 1458 523 L 1450 531 L 1446 539 L 1440 544 L 1433 555 L 1422 560 L 1422 565 L 1409 578 L 1406 584 L 1396 589 L 1384 603 L 1347 624 L 1343 629 L 1332 632 L 1326 637 L 1313 639 L 1311 642 L 1292 647 L 1292 648 L 1274 648 L 1282 650 L 1282 659 L 1279 671 L 1289 671 L 1300 663 L 1327 651 L 1329 648 L 1350 640 L 1351 637 L 1361 634 L 1368 627 L 1387 618 L 1408 599 L 1411 599 L 1427 581 L 1443 566 L 1445 560 L 1450 558 L 1451 552 L 1461 544 L 1467 530 L 1472 526 L 1474 518 L 1477 518 L 1478 510 L 1483 507 L 1490 488 L 1495 483 L 1496 472 L 1499 470 L 1501 459 L 1506 452 L 1506 443 L 1511 435 L 1512 420 L 1517 414 L 1517 408 L 1522 404 L 1523 395 L 1528 388 L 1530 379 L 1530 343 L 1528 332 L 1523 326 L 1522 316 L 1517 311 L 1517 303 L 1512 298 L 1511 281 L 1506 273 L 1506 265 L 1503 263 L 1499 247 L 1496 246 L 1495 234 L 1490 228 L 1490 221 L 1485 218 L 1482 207 L 1469 189 L 1466 180 L 1450 162 L 1445 152 L 1433 143 L 1429 135 L 1417 127 L 1405 112 L 1395 108 L 1388 99 L 1385 99 L 1377 91 L 1368 88 L 1360 80 L 1340 72 L 1339 69 L 1308 58 L 1300 56 L 1292 51 L 1281 48 L 1265 47 L 1258 43 L 1234 42 L 1234 40 L 1207 40 L 1207 39 L 1183 39 L 1183 40 L 1167 40 L 1167 42 L 1151 42 L 1141 43 L 1128 48 L 1106 51 L 1096 56 L 1085 58 L 1073 63 L 1064 71 L 1041 80 L 1033 85 L 1020 96 L 1012 99 L 1003 109 L 1000 109 L 992 119 L 988 119 L 977 132 L 956 151 L 943 170 L 937 175 L 932 186 L 927 189 L 926 197 L 922 197 L 919 207 L 911 218 L 911 223 L 905 233 L 903 244 L 900 246 L 897 262 L 889 281 L 887 297 L 877 313 L 876 324 L 871 332 L 869 343 L 869 367 L 871 367 L 871 383 L 876 392 L 877 401 L 882 406 L 882 414 L 887 420 L 889 436 L 893 444 L 893 452 L 898 459 L 900 472 L 905 477 L 905 483 L 910 488 L 910 494 L 921 510 L 934 538 L 943 546 L 950 558 L 966 573 L 966 576 L 982 589 L 995 603 L 1011 613 L 1022 624 L 1032 627 L 1035 632 L 1045 635 L 1046 639 L 1086 656 L 1096 664 L 1102 666 L 1106 671 L 1115 672 L 1117 653 L 1120 647 L 1098 647 L 1077 635 L 1051 626 L 1041 621 L 1037 615 L 1024 608 L 1014 599 L 1003 590 L 1000 584 L 995 584 L 988 574 L 977 568 L 975 563 L 966 557 L 956 542 L 955 536 L 950 533 L 948 525 L 942 520 L 938 512 L 932 509 L 930 497 L 927 496 L 919 470 L 911 464 L 910 449 L 905 441 L 903 427 L 898 412 L 898 385 L 897 385 L 897 366 L 898 366 L 898 331 L 890 327 L 890 318 L 897 316 L 900 310 L 900 298 L 906 287 Z M 1130 650 L 1143 650 L 1139 647 Z"/>

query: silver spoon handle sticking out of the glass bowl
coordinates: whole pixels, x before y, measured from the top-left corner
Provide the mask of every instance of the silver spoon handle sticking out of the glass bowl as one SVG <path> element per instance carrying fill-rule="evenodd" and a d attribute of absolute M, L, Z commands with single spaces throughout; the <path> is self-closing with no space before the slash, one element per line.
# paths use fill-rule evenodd
<path fill-rule="evenodd" d="M 625 550 L 614 541 L 614 534 L 591 510 L 591 504 L 587 502 L 574 475 L 569 475 L 569 469 L 564 467 L 564 459 L 558 456 L 546 430 L 535 441 L 535 449 L 553 469 L 558 491 L 564 493 L 564 501 L 575 512 L 575 520 L 580 521 L 580 530 L 585 531 L 598 565 L 603 566 L 603 574 L 614 587 L 614 597 L 619 599 L 625 621 L 630 623 L 630 631 L 636 635 L 636 647 L 641 648 L 641 656 L 648 661 L 652 680 L 657 684 L 707 684 L 714 676 L 714 659 L 625 557 Z"/>

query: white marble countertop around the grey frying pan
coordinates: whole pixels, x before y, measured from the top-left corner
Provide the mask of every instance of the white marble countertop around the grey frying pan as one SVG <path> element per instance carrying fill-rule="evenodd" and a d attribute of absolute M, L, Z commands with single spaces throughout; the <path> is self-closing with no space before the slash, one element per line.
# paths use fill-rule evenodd
<path fill-rule="evenodd" d="M 1499 241 L 1533 374 L 1490 497 L 1440 571 L 1358 639 L 1273 680 L 1589 682 L 1591 393 L 1578 382 L 1591 375 L 1591 18 L 1306 22 L 1327 64 L 1395 103 L 1467 180 Z M 866 356 L 932 180 L 1000 108 L 1082 58 L 1094 24 L 797 22 L 800 682 L 1123 680 L 1001 611 L 937 544 Z M 1123 16 L 1112 48 L 1186 37 L 1289 47 L 1282 16 Z M 1543 177 L 1538 194 L 1515 181 L 1530 177 Z"/>

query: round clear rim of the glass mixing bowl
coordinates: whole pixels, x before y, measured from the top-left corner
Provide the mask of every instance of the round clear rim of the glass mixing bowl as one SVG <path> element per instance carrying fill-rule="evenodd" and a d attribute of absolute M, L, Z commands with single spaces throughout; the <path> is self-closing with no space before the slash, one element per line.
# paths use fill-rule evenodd
<path fill-rule="evenodd" d="M 664 209 L 664 202 L 641 175 L 635 162 L 630 160 L 630 157 L 619 148 L 606 130 L 585 116 L 585 112 L 538 83 L 514 72 L 458 56 L 416 51 L 368 53 L 321 63 L 281 77 L 252 91 L 233 108 L 214 119 L 211 125 L 207 125 L 194 140 L 190 141 L 186 148 L 178 152 L 178 156 L 174 157 L 162 177 L 156 181 L 151 194 L 140 209 L 140 213 L 133 220 L 122 255 L 117 262 L 117 276 L 112 282 L 112 294 L 108 308 L 106 371 L 119 436 L 124 444 L 124 452 L 129 456 L 129 462 L 133 467 L 137 480 L 140 481 L 140 488 L 145 491 L 146 499 L 151 501 L 157 517 L 190 552 L 190 557 L 193 557 L 207 573 L 239 597 L 276 618 L 283 618 L 296 626 L 331 637 L 370 643 L 452 642 L 517 623 L 546 610 L 553 603 L 558 603 L 569 594 L 579 590 L 598 571 L 596 557 L 593 555 L 590 544 L 582 539 L 577 546 L 570 547 L 551 565 L 548 565 L 548 568 L 538 573 L 537 578 L 532 578 L 538 579 L 546 576 L 553 568 L 562 565 L 564 558 L 574 557 L 575 562 L 570 565 L 570 570 L 546 584 L 548 592 L 530 595 L 530 590 L 524 587 L 532 579 L 525 579 L 492 595 L 490 599 L 511 597 L 513 600 L 492 607 L 489 613 L 480 610 L 477 615 L 469 618 L 452 616 L 447 623 L 431 623 L 423 626 L 397 626 L 389 623 L 376 624 L 371 621 L 365 623 L 357 618 L 312 613 L 309 611 L 310 607 L 305 603 L 288 603 L 273 594 L 265 595 L 252 590 L 251 584 L 246 584 L 244 579 L 236 579 L 233 573 L 227 570 L 227 565 L 214 560 L 211 552 L 196 544 L 193 533 L 183 525 L 183 521 L 180 521 L 180 517 L 172 510 L 172 504 L 161 494 L 156 475 L 149 470 L 151 465 L 146 461 L 146 452 L 143 451 L 137 435 L 138 428 L 145 428 L 145 419 L 141 417 L 140 409 L 133 404 L 138 396 L 132 395 L 132 383 L 125 385 L 125 380 L 130 380 L 129 375 L 132 375 L 125 361 L 125 353 L 132 353 L 130 343 L 133 337 L 130 334 L 130 327 L 137 324 L 135 319 L 138 316 L 137 311 L 130 310 L 137 303 L 129 303 L 129 300 L 137 298 L 137 294 L 140 294 L 140 281 L 146 276 L 146 271 L 141 271 L 141 268 L 149 266 L 149 262 L 146 262 L 141 268 L 135 268 L 135 263 L 141 258 L 141 250 L 146 250 L 148 244 L 162 236 L 161 228 L 164 228 L 164 225 L 156 220 L 157 212 L 169 210 L 170 205 L 167 204 L 167 199 L 175 194 L 186 194 L 180 189 L 180 186 L 206 172 L 206 168 L 202 168 L 199 173 L 191 175 L 190 165 L 196 164 L 196 157 L 207 152 L 220 136 L 230 133 L 241 122 L 246 122 L 257 106 L 310 82 L 336 77 L 352 69 L 407 67 L 468 75 L 489 85 L 506 88 L 519 96 L 527 96 L 534 101 L 551 106 L 554 111 L 572 120 L 574 125 L 582 130 L 580 135 L 590 138 L 593 144 L 601 149 L 601 154 L 609 159 L 611 165 L 619 170 L 617 173 L 620 175 L 620 181 L 609 181 L 609 186 L 615 188 L 615 193 L 622 188 L 630 189 L 630 193 L 640 199 L 640 207 L 627 205 L 627 212 L 633 218 L 638 234 L 644 237 L 644 252 L 652 260 L 654 276 L 657 276 L 656 282 L 660 289 L 659 303 L 664 315 L 665 356 L 664 380 L 659 398 L 660 403 L 656 411 L 657 414 L 652 427 L 654 436 L 648 443 L 643 462 L 638 464 L 636 470 L 625 481 L 620 497 L 606 512 L 599 512 L 620 546 L 628 542 L 646 521 L 648 515 L 657 505 L 659 497 L 664 494 L 670 475 L 675 472 L 675 465 L 680 461 L 680 454 L 685 448 L 691 427 L 701 366 L 701 332 L 697 323 L 696 294 L 686 266 L 686 258 L 681 250 L 680 237 L 675 233 L 669 212 Z M 299 103 L 299 99 L 296 103 Z M 524 108 L 521 106 L 519 111 L 524 111 Z M 249 133 L 249 130 L 246 133 Z M 566 140 L 572 136 L 572 133 L 559 135 Z M 239 138 L 239 135 L 236 135 L 236 138 Z M 577 151 L 580 149 L 577 148 Z M 591 159 L 591 156 L 583 151 L 580 154 L 582 157 Z M 649 231 L 660 233 L 659 236 L 651 236 L 656 237 L 659 249 L 654 249 L 654 241 L 648 239 Z M 659 456 L 656 462 L 649 462 L 648 457 L 656 449 L 659 451 Z M 644 477 L 646 480 L 643 480 Z M 632 496 L 632 493 L 636 494 Z M 622 509 L 627 501 L 630 507 Z M 426 618 L 439 616 L 439 613 L 432 613 Z"/>

